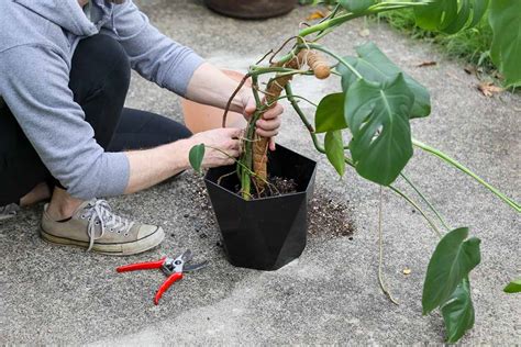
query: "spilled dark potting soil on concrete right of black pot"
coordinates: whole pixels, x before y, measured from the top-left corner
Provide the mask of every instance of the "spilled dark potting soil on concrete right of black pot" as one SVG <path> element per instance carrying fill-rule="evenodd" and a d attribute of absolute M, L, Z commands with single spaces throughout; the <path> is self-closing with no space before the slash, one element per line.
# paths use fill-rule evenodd
<path fill-rule="evenodd" d="M 329 198 L 325 192 L 317 191 L 309 206 L 308 233 L 312 236 L 350 237 L 355 225 L 350 219 L 353 208 L 347 203 Z"/>

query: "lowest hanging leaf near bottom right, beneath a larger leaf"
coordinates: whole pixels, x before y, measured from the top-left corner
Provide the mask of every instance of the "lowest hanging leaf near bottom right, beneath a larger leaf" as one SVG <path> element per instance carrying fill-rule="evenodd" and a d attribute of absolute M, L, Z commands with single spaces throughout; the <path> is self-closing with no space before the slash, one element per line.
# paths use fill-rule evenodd
<path fill-rule="evenodd" d="M 474 326 L 474 305 L 468 278 L 457 284 L 441 311 L 445 321 L 447 343 L 454 344 Z"/>

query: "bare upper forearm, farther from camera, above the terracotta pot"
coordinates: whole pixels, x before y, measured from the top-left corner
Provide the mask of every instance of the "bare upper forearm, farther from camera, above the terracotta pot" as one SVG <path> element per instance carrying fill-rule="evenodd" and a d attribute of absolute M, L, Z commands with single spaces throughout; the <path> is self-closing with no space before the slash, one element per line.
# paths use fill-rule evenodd
<path fill-rule="evenodd" d="M 237 81 L 234 81 L 211 64 L 204 63 L 193 72 L 188 83 L 186 97 L 196 102 L 224 109 L 237 86 Z M 244 112 L 243 98 L 246 97 L 245 91 L 246 89 L 243 88 L 236 94 L 230 111 Z"/>

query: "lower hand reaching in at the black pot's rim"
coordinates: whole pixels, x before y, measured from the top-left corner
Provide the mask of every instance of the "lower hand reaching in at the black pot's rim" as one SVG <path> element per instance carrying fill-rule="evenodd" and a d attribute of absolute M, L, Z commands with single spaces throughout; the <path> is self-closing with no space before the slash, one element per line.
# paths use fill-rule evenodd
<path fill-rule="evenodd" d="M 242 132 L 241 128 L 235 127 L 214 128 L 198 133 L 188 141 L 190 148 L 204 144 L 204 158 L 201 166 L 213 168 L 235 163 L 234 158 L 241 155 L 241 141 L 239 138 Z"/>

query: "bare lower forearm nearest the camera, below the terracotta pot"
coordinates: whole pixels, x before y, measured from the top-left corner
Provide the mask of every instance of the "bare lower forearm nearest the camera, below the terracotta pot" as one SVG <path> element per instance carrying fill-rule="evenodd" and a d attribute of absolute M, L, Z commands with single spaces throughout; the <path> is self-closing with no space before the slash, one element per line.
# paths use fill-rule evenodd
<path fill-rule="evenodd" d="M 125 194 L 147 189 L 188 169 L 192 145 L 190 139 L 180 139 L 152 149 L 126 152 L 130 178 Z"/>

